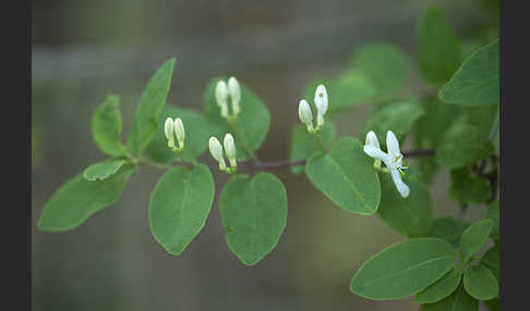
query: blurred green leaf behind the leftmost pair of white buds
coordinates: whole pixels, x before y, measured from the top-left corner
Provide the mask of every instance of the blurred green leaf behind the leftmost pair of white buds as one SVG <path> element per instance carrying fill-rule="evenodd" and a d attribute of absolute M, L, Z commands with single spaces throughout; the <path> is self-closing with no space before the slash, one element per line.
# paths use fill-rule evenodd
<path fill-rule="evenodd" d="M 208 139 L 215 130 L 215 127 L 203 114 L 174 104 L 167 104 L 158 117 L 158 124 L 165 124 L 167 117 L 171 117 L 172 120 L 180 117 L 182 120 L 185 132 L 182 157 L 185 161 L 193 161 L 208 148 Z M 174 144 L 178 145 L 177 138 Z M 153 161 L 166 165 L 174 162 L 179 158 L 168 147 L 168 139 L 164 134 L 164 126 L 158 126 L 155 138 L 145 149 L 145 154 Z"/>

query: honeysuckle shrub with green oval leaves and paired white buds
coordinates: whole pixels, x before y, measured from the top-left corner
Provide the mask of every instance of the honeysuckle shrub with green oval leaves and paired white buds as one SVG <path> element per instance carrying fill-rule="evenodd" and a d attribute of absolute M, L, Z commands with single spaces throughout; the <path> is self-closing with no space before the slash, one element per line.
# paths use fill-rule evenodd
<path fill-rule="evenodd" d="M 410 60 L 397 47 L 359 47 L 344 72 L 304 89 L 301 123 L 278 162 L 256 156 L 272 117 L 257 94 L 234 77 L 216 77 L 205 87 L 202 111 L 166 104 L 176 64 L 168 60 L 142 92 L 127 141 L 120 98 L 109 95 L 98 105 L 92 134 L 107 158 L 62 185 L 37 227 L 74 229 L 119 200 L 133 173 L 153 166 L 165 173 L 150 192 L 150 232 L 168 253 L 184 256 L 210 212 L 214 175 L 229 174 L 217 198 L 226 242 L 253 265 L 274 256 L 287 226 L 288 187 L 268 172 L 284 166 L 305 175 L 338 208 L 377 215 L 406 237 L 345 275 L 353 294 L 415 296 L 422 310 L 478 310 L 479 301 L 498 310 L 498 38 L 465 58 L 450 23 L 431 5 L 418 45 L 427 91 L 409 89 Z M 334 117 L 358 104 L 374 107 L 363 129 L 337 137 Z M 402 151 L 407 139 L 413 149 Z M 215 165 L 197 160 L 206 150 Z M 413 157 L 419 161 L 408 161 Z M 435 217 L 430 185 L 443 170 L 450 173 L 447 195 L 461 211 Z M 483 206 L 486 216 L 465 222 L 469 204 Z"/>

